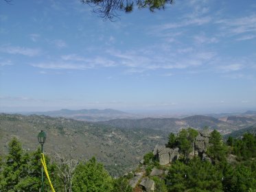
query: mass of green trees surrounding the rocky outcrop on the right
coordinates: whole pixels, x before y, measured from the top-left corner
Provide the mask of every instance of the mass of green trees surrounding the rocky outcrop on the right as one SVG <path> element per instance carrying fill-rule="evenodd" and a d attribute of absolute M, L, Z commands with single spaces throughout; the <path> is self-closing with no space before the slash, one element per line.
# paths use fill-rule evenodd
<path fill-rule="evenodd" d="M 181 158 L 171 165 L 156 165 L 151 152 L 144 156 L 146 176 L 155 182 L 155 191 L 255 191 L 256 136 L 245 133 L 241 139 L 223 142 L 220 132 L 209 134 L 207 157 L 191 156 L 198 132 L 191 128 L 170 133 L 167 147 L 179 147 Z M 232 160 L 233 158 L 233 160 Z M 150 176 L 154 168 L 168 170 L 167 175 Z"/>

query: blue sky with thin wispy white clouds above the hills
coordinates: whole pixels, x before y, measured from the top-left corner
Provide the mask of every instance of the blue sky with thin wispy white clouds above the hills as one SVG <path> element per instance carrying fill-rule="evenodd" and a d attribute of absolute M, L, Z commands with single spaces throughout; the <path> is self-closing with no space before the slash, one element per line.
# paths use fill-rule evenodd
<path fill-rule="evenodd" d="M 1 0 L 0 112 L 256 110 L 255 10 L 176 0 L 112 22 L 79 0 Z"/>

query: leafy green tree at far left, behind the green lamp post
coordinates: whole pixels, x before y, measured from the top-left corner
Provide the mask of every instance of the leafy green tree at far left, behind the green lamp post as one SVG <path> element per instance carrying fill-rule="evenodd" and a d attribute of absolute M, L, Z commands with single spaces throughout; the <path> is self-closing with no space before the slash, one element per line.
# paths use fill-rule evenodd
<path fill-rule="evenodd" d="M 12 139 L 8 144 L 8 154 L 3 160 L 0 172 L 0 191 L 38 191 L 41 186 L 40 149 L 36 152 L 25 153 L 21 143 Z M 47 169 L 51 182 L 57 191 L 60 187 L 56 175 L 56 166 L 49 164 L 49 158 L 45 156 Z M 49 184 L 45 179 L 45 189 L 49 191 Z"/>

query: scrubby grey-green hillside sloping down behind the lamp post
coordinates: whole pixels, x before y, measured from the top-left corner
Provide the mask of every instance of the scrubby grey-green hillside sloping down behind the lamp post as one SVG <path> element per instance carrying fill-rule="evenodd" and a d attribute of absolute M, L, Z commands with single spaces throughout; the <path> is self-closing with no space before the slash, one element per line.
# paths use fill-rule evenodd
<path fill-rule="evenodd" d="M 115 176 L 135 168 L 145 152 L 164 144 L 167 134 L 151 129 L 118 129 L 62 117 L 0 114 L 0 154 L 7 152 L 8 142 L 16 136 L 24 149 L 34 150 L 40 130 L 47 132 L 45 152 L 55 157 L 69 154 L 84 160 L 95 156 Z"/>

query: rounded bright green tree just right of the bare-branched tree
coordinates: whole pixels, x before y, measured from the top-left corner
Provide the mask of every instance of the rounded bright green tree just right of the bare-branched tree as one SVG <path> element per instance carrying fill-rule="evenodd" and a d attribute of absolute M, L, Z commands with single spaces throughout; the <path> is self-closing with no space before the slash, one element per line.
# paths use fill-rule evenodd
<path fill-rule="evenodd" d="M 97 163 L 95 157 L 86 163 L 80 163 L 75 168 L 72 190 L 105 192 L 112 191 L 113 182 L 108 172 L 101 163 Z"/>

